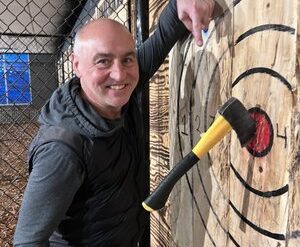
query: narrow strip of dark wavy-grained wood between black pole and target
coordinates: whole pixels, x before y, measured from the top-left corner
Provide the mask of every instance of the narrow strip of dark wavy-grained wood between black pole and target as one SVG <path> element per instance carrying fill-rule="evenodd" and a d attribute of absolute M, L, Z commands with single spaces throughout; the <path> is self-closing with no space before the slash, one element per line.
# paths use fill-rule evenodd
<path fill-rule="evenodd" d="M 149 1 L 149 28 L 155 29 L 157 18 L 167 1 Z M 169 171 L 168 105 L 169 105 L 168 59 L 150 82 L 150 190 L 162 181 Z M 151 246 L 168 246 L 170 242 L 169 209 L 151 214 Z"/>

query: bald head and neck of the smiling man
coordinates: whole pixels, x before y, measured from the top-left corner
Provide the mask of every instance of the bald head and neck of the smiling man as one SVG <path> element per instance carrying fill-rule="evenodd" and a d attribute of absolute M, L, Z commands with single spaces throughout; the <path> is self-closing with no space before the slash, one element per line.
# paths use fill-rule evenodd
<path fill-rule="evenodd" d="M 76 34 L 72 62 L 83 97 L 103 117 L 120 117 L 139 79 L 135 42 L 126 27 L 110 19 L 86 24 Z"/>

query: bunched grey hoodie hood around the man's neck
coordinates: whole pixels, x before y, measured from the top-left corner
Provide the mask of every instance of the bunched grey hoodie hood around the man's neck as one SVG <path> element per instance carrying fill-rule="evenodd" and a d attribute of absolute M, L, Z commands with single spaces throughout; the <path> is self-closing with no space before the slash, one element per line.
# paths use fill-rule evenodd
<path fill-rule="evenodd" d="M 88 137 L 110 136 L 124 126 L 126 110 L 120 119 L 102 118 L 80 96 L 80 90 L 80 81 L 77 77 L 56 89 L 41 109 L 39 123 L 60 126 Z"/>

